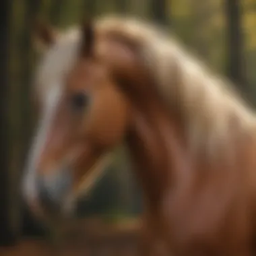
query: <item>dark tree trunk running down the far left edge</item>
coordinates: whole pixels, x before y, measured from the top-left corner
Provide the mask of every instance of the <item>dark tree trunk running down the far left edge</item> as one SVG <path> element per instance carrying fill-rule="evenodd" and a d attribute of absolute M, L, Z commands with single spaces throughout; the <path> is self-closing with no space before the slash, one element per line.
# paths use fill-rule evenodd
<path fill-rule="evenodd" d="M 0 2 L 0 245 L 11 245 L 16 238 L 11 225 L 9 204 L 9 32 L 11 30 L 11 0 Z"/>

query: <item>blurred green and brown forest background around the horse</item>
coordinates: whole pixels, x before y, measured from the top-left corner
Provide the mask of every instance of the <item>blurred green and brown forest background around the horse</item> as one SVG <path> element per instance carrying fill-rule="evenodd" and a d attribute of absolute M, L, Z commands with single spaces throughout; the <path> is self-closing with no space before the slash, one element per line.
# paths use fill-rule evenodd
<path fill-rule="evenodd" d="M 19 190 L 36 123 L 30 100 L 34 67 L 40 57 L 32 43 L 35 18 L 61 30 L 80 22 L 83 15 L 111 13 L 162 24 L 195 56 L 232 79 L 251 105 L 256 105 L 256 0 L 1 0 L 1 256 L 135 255 L 141 193 L 125 147 L 79 202 L 64 240 L 55 228 L 34 220 Z"/>

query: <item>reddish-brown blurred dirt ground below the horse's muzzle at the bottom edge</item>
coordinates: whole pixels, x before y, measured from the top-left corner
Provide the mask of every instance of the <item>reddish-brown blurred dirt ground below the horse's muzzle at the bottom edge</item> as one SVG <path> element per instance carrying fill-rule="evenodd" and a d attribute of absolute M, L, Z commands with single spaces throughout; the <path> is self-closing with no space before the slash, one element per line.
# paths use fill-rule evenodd
<path fill-rule="evenodd" d="M 22 238 L 13 247 L 0 247 L 0 256 L 136 256 L 138 233 L 137 222 L 77 222 L 61 243 Z"/>

